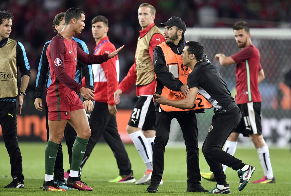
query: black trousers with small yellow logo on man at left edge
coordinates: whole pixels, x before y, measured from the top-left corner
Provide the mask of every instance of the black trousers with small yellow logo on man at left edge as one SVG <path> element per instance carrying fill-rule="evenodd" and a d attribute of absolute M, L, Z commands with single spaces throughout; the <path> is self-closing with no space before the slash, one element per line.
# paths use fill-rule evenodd
<path fill-rule="evenodd" d="M 24 183 L 22 156 L 17 138 L 16 103 L 0 102 L 0 124 L 5 147 L 10 157 L 11 176 Z"/>

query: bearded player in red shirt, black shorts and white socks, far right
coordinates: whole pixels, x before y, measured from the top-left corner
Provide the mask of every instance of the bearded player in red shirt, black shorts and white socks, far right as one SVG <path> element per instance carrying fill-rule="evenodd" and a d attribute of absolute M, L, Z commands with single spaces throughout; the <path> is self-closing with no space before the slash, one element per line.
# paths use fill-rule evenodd
<path fill-rule="evenodd" d="M 240 133 L 249 136 L 253 141 L 259 160 L 264 170 L 264 177 L 253 183 L 275 183 L 273 170 L 270 161 L 269 148 L 262 135 L 261 123 L 261 102 L 262 98 L 258 85 L 265 78 L 263 68 L 260 64 L 260 52 L 252 44 L 249 25 L 244 21 L 236 22 L 233 25 L 233 32 L 236 44 L 241 51 L 231 56 L 216 54 L 215 60 L 221 65 L 236 63 L 236 104 L 243 111 L 240 124 L 230 134 L 224 145 L 224 151 L 233 155 L 236 151 L 237 139 Z M 223 165 L 223 170 L 226 170 Z M 202 177 L 203 177 L 202 173 Z M 212 179 L 211 176 L 206 178 Z"/>

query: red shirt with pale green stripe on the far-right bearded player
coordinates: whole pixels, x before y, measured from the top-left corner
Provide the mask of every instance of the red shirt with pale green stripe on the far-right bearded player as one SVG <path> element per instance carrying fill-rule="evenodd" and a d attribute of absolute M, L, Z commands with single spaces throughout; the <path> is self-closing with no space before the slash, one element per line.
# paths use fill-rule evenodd
<path fill-rule="evenodd" d="M 258 73 L 262 69 L 260 52 L 254 45 L 231 56 L 236 65 L 236 103 L 261 102 Z"/>

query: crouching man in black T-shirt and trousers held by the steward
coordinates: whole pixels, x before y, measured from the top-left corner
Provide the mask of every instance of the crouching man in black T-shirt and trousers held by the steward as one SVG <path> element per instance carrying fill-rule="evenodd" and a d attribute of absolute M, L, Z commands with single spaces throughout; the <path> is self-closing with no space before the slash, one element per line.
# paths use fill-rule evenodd
<path fill-rule="evenodd" d="M 186 43 L 181 57 L 183 65 L 192 69 L 187 79 L 189 93 L 185 99 L 179 101 L 168 100 L 164 96 L 157 95 L 159 98 L 156 101 L 161 105 L 186 109 L 192 108 L 197 95 L 201 94 L 212 103 L 215 114 L 203 143 L 202 152 L 217 184 L 208 193 L 230 194 L 222 164 L 237 171 L 240 180 L 238 189 L 242 191 L 255 168 L 222 150 L 226 139 L 241 120 L 241 110 L 230 95 L 229 89 L 216 67 L 203 61 L 204 48 L 199 42 Z"/>

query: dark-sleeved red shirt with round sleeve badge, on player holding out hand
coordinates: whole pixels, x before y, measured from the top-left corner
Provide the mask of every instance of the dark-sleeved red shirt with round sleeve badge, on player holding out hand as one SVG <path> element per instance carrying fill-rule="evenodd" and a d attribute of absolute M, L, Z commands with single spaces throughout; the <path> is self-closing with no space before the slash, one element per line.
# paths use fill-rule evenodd
<path fill-rule="evenodd" d="M 58 34 L 50 42 L 46 55 L 49 60 L 52 83 L 48 88 L 47 101 L 58 101 L 65 91 L 79 92 L 82 88 L 74 80 L 77 58 L 86 64 L 103 63 L 108 60 L 108 54 L 88 55 L 75 40 L 68 40 Z"/>

